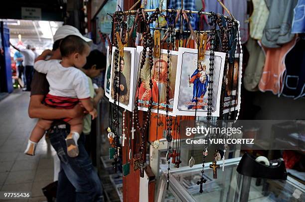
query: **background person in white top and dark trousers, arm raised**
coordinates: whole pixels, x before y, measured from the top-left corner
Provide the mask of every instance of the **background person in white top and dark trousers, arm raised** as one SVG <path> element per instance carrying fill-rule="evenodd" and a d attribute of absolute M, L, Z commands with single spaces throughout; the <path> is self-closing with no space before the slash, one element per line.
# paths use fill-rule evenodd
<path fill-rule="evenodd" d="M 35 54 L 31 50 L 31 46 L 27 45 L 26 49 L 19 49 L 9 43 L 14 49 L 21 52 L 24 56 L 24 67 L 25 67 L 25 81 L 26 81 L 26 89 L 25 91 L 31 91 L 31 83 L 33 78 L 33 71 L 34 71 L 34 61 L 35 61 Z"/>

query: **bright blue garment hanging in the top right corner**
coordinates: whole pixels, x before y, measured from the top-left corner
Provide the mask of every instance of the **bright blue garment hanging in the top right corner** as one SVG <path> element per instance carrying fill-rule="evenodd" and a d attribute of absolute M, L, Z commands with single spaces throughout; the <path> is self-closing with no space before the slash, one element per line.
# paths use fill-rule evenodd
<path fill-rule="evenodd" d="M 299 0 L 294 9 L 294 19 L 291 33 L 305 33 L 305 0 Z"/>

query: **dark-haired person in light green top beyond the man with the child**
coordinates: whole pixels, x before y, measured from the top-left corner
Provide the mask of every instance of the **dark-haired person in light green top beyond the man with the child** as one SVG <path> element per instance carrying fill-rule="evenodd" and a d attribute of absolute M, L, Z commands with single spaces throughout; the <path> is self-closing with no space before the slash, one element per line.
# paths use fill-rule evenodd
<path fill-rule="evenodd" d="M 101 75 L 102 71 L 106 69 L 106 56 L 99 50 L 93 50 L 87 57 L 87 63 L 83 68 L 80 68 L 88 77 L 90 97 L 93 99 L 93 104 L 97 107 L 99 101 L 103 98 L 105 91 L 99 87 L 98 89 L 93 88 L 92 79 Z M 91 133 L 91 117 L 87 114 L 84 117 L 84 128 L 83 133 L 86 135 L 85 149 L 89 156 L 94 156 L 93 148 L 96 141 L 95 136 Z"/>

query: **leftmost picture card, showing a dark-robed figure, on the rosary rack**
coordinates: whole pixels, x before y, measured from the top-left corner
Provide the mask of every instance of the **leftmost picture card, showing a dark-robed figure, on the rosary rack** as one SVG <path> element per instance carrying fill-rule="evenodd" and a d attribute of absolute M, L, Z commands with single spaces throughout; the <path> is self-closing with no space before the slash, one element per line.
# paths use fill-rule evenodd
<path fill-rule="evenodd" d="M 111 82 L 110 82 L 110 98 L 109 101 L 114 103 L 115 88 L 117 88 L 117 101 L 119 106 L 132 111 L 133 110 L 133 95 L 135 79 L 134 79 L 134 66 L 136 57 L 136 48 L 124 48 L 124 57 L 119 56 L 119 72 L 117 83 L 114 83 L 115 77 L 115 53 L 116 48 L 112 50 L 112 63 L 111 63 Z"/>

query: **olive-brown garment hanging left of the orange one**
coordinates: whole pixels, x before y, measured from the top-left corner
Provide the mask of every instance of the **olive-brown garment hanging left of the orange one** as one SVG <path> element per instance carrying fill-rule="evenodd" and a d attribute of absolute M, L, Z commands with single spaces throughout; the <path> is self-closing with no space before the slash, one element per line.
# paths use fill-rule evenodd
<path fill-rule="evenodd" d="M 250 57 L 243 76 L 243 84 L 247 91 L 257 91 L 265 64 L 265 53 L 257 40 L 251 37 L 249 37 L 246 47 Z"/>

